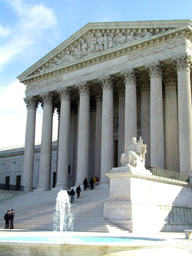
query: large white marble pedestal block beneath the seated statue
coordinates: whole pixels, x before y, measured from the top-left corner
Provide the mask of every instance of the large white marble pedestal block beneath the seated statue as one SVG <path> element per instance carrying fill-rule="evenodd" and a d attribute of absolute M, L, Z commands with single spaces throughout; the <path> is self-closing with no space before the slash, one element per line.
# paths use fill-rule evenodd
<path fill-rule="evenodd" d="M 192 185 L 125 166 L 106 173 L 110 199 L 104 218 L 131 232 L 192 229 Z"/>

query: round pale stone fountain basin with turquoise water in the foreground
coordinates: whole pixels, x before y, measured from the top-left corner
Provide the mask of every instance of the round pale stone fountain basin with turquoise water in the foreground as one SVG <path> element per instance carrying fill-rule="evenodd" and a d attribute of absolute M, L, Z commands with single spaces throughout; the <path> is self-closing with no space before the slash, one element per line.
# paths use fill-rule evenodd
<path fill-rule="evenodd" d="M 11 231 L 11 232 L 10 232 Z M 159 248 L 164 239 L 84 232 L 13 232 L 0 234 L 0 255 L 107 255 L 143 248 Z"/>

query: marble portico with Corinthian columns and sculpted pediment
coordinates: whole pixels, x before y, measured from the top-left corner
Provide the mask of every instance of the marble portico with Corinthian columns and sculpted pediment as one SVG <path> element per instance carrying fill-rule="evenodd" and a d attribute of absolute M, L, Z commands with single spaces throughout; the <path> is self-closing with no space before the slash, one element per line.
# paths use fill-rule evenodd
<path fill-rule="evenodd" d="M 108 185 L 105 173 L 120 166 L 124 147 L 139 136 L 147 144 L 145 166 L 191 174 L 191 40 L 191 20 L 88 23 L 19 75 L 26 84 L 25 191 L 34 187 L 38 103 L 43 106 L 39 190 L 53 187 L 54 109 L 57 189 L 94 176 L 99 186 Z"/>

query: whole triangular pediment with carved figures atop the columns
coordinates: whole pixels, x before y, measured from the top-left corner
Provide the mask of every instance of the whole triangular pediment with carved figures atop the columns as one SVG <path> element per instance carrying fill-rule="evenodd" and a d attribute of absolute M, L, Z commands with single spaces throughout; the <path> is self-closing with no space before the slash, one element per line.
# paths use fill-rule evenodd
<path fill-rule="evenodd" d="M 85 60 L 146 42 L 179 28 L 187 28 L 191 23 L 191 20 L 87 23 L 19 75 L 18 79 L 22 82 L 70 65 L 78 67 L 78 63 Z"/>

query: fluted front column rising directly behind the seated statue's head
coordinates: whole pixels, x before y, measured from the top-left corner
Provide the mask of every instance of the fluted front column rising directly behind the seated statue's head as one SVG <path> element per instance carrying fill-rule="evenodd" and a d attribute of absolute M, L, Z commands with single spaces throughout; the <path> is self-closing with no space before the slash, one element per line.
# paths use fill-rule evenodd
<path fill-rule="evenodd" d="M 125 147 L 129 146 L 132 137 L 137 138 L 137 94 L 136 78 L 138 71 L 134 68 L 121 72 L 125 81 Z"/>

